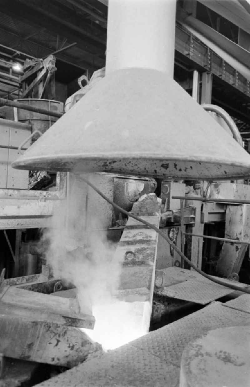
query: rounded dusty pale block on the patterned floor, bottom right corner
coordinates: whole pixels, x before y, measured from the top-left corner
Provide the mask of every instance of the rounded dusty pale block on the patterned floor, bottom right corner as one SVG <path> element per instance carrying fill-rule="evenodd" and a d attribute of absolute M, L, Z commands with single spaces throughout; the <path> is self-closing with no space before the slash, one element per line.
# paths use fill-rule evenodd
<path fill-rule="evenodd" d="M 248 387 L 250 326 L 210 330 L 188 344 L 181 361 L 181 383 L 187 386 Z"/>

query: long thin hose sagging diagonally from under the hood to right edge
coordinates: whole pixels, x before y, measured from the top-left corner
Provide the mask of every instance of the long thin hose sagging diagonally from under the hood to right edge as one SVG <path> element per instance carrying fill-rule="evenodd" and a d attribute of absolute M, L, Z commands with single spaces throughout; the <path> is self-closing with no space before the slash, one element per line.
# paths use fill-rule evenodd
<path fill-rule="evenodd" d="M 244 289 L 244 288 L 241 288 L 240 286 L 237 286 L 237 285 L 233 285 L 233 284 L 228 284 L 228 283 L 224 283 L 224 281 L 220 281 L 219 279 L 216 279 L 216 278 L 213 278 L 211 276 L 209 276 L 209 274 L 206 274 L 204 271 L 200 270 L 198 267 L 196 267 L 193 262 L 191 262 L 179 249 L 178 247 L 175 245 L 175 243 L 173 243 L 170 238 L 168 238 L 168 236 L 166 236 L 158 227 L 154 226 L 153 224 L 147 222 L 146 220 L 144 219 L 141 219 L 139 216 L 136 216 L 134 214 L 131 214 L 131 212 L 128 212 L 126 210 L 124 210 L 122 207 L 120 207 L 120 205 L 117 205 L 115 204 L 112 200 L 110 200 L 106 195 L 104 195 L 97 187 L 95 187 L 91 182 L 89 182 L 86 178 L 80 176 L 81 180 L 84 181 L 84 183 L 86 183 L 87 185 L 89 185 L 89 187 L 91 187 L 93 190 L 95 190 L 103 199 L 105 199 L 108 203 L 110 203 L 113 207 L 115 207 L 116 209 L 118 209 L 119 211 L 123 212 L 123 214 L 127 215 L 127 216 L 130 216 L 132 218 L 134 218 L 135 220 L 145 224 L 146 226 L 152 228 L 154 231 L 156 231 L 159 235 L 161 235 L 163 237 L 163 239 L 165 239 L 169 244 L 170 246 L 176 251 L 176 253 L 178 253 L 180 255 L 180 257 L 183 258 L 183 260 L 185 262 L 187 262 L 187 264 L 189 266 L 191 266 L 195 271 L 197 271 L 199 274 L 201 274 L 203 277 L 205 278 L 208 278 L 210 279 L 210 281 L 212 282 L 215 282 L 216 284 L 219 284 L 219 285 L 223 285 L 223 286 L 226 286 L 226 288 L 230 288 L 230 289 L 233 289 L 233 290 L 239 290 L 239 291 L 242 291 L 243 293 L 248 293 L 250 294 L 250 289 Z"/>

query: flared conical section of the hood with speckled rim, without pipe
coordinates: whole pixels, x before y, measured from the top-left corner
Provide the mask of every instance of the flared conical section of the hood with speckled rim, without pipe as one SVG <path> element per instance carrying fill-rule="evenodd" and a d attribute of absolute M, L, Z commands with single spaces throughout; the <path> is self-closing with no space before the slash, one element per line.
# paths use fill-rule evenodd
<path fill-rule="evenodd" d="M 250 155 L 168 75 L 111 72 L 12 166 L 178 179 L 250 176 Z"/>

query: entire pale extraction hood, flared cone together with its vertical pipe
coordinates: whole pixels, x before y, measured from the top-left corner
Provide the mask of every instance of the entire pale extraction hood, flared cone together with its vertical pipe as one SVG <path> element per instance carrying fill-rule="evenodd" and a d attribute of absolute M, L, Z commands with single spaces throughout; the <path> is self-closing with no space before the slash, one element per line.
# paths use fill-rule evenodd
<path fill-rule="evenodd" d="M 175 2 L 109 2 L 106 76 L 12 166 L 176 179 L 250 176 L 250 156 L 173 80 Z"/>

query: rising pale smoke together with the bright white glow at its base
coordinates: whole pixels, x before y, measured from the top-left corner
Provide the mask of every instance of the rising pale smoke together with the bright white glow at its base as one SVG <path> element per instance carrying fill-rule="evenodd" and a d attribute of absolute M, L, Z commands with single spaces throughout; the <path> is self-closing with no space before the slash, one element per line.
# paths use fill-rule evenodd
<path fill-rule="evenodd" d="M 104 350 L 117 348 L 147 332 L 142 315 L 148 315 L 149 305 L 115 298 L 122 265 L 115 254 L 117 245 L 101 230 L 107 221 L 99 214 L 106 203 L 98 200 L 88 206 L 93 192 L 75 175 L 69 177 L 67 200 L 55 209 L 44 235 L 49 240 L 47 263 L 55 278 L 76 286 L 81 312 L 94 315 L 94 330 L 84 332 Z"/>

